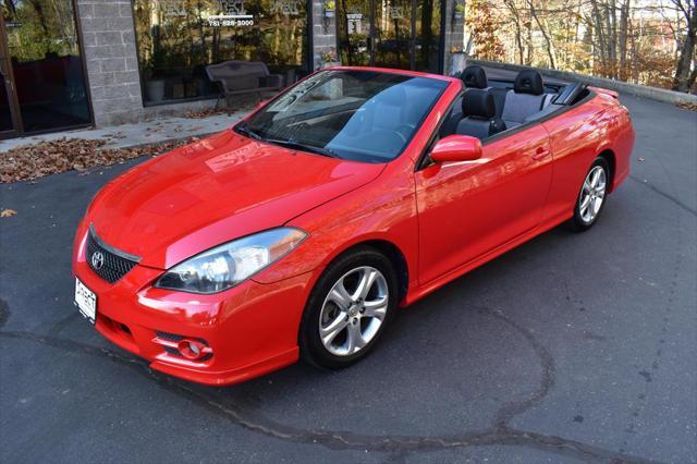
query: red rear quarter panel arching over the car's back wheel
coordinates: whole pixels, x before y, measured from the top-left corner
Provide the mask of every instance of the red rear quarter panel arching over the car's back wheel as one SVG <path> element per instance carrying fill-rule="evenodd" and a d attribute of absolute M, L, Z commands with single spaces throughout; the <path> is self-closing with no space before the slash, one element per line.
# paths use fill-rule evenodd
<path fill-rule="evenodd" d="M 634 130 L 626 108 L 613 95 L 598 90 L 578 107 L 542 124 L 554 159 L 546 221 L 561 221 L 573 215 L 585 175 L 601 152 L 610 150 L 614 155 L 611 191 L 626 179 Z"/>

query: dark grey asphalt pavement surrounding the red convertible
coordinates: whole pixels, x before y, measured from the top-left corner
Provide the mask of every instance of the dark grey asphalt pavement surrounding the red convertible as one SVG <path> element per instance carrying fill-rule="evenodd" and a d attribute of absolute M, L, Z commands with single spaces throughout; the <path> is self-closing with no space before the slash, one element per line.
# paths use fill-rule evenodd
<path fill-rule="evenodd" d="M 633 172 L 400 313 L 355 367 L 152 373 L 73 306 L 73 233 L 135 162 L 0 185 L 0 462 L 697 461 L 697 112 L 632 97 Z"/>

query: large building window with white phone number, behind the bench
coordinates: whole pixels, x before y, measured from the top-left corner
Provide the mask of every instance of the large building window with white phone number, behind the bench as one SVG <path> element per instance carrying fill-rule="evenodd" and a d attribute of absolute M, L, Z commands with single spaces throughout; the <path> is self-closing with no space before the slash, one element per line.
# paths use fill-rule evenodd
<path fill-rule="evenodd" d="M 307 74 L 305 0 L 135 0 L 147 103 L 212 98 L 206 65 L 259 61 L 289 85 Z"/>

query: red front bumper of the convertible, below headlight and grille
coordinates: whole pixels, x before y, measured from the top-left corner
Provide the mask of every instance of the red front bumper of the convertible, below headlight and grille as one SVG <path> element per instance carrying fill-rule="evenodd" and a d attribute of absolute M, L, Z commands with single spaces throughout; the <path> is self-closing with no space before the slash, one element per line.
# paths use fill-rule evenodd
<path fill-rule="evenodd" d="M 215 295 L 196 295 L 152 288 L 162 270 L 137 265 L 110 284 L 85 261 L 85 242 L 86 228 L 81 227 L 73 273 L 97 294 L 96 329 L 148 359 L 152 369 L 199 383 L 231 384 L 297 361 L 310 273 L 270 284 L 248 280 Z M 212 353 L 189 361 L 167 343 L 178 338 L 204 340 Z"/>

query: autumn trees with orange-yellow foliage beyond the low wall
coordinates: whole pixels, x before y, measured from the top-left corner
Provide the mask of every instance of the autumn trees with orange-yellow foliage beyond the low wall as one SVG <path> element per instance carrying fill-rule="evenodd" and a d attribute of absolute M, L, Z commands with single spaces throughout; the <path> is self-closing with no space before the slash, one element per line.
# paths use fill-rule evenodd
<path fill-rule="evenodd" d="M 486 60 L 697 91 L 697 0 L 472 0 L 464 49 Z"/>

